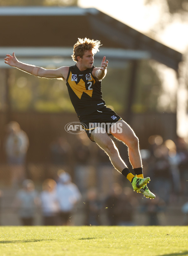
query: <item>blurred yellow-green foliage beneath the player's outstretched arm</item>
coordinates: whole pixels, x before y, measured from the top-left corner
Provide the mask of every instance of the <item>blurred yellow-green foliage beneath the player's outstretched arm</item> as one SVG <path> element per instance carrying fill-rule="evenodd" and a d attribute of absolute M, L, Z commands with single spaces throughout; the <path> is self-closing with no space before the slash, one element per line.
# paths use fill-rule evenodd
<path fill-rule="evenodd" d="M 16 69 L 10 72 L 12 109 L 39 112 L 74 111 L 62 80 L 42 79 Z"/>

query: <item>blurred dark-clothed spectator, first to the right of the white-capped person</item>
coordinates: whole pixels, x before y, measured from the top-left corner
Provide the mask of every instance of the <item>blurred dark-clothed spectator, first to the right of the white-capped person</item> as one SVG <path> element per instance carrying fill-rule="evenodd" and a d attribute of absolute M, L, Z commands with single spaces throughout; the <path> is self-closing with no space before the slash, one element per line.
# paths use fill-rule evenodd
<path fill-rule="evenodd" d="M 102 202 L 97 196 L 97 189 L 91 188 L 87 192 L 87 199 L 85 202 L 85 225 L 101 225 L 100 221 L 100 211 L 102 208 Z"/>

